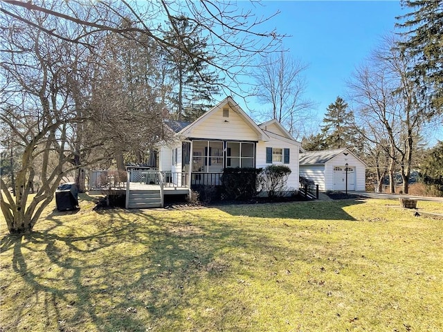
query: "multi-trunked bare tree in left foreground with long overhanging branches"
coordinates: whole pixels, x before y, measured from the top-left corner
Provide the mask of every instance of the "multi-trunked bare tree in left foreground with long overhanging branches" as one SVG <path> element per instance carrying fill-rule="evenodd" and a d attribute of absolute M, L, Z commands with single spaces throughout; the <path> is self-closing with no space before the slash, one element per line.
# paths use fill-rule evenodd
<path fill-rule="evenodd" d="M 208 38 L 209 55 L 192 54 L 186 43 L 163 39 L 165 27 L 159 17 L 167 17 L 177 31 L 174 22 L 183 11 Z M 116 151 L 124 149 L 124 143 L 152 146 L 163 138 L 161 123 L 168 113 L 165 90 L 147 84 L 142 56 L 127 57 L 128 75 L 120 75 L 123 67 L 117 64 L 115 70 L 107 69 L 111 62 L 106 37 L 118 35 L 144 48 L 145 55 L 154 49 L 177 48 L 191 62 L 206 62 L 237 83 L 237 71 L 255 55 L 271 52 L 281 37 L 257 31 L 264 20 L 251 21 L 251 12 L 212 1 L 131 6 L 112 0 L 4 0 L 0 12 L 4 77 L 0 120 L 23 150 L 15 176 L 17 195 L 10 194 L 3 180 L 0 183 L 1 210 L 10 232 L 33 230 L 66 174 L 77 172 L 80 181 L 82 167 L 120 156 Z M 159 82 L 164 82 L 162 77 Z M 230 83 L 222 88 L 232 91 Z M 121 87 L 125 89 L 119 93 Z M 31 199 L 37 177 L 40 187 Z"/>

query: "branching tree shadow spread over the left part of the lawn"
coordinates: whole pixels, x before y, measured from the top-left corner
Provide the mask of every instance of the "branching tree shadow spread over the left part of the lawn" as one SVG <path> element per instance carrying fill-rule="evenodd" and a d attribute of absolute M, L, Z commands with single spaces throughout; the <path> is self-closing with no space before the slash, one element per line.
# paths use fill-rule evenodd
<path fill-rule="evenodd" d="M 231 326 L 235 323 L 225 323 L 221 314 L 209 317 L 204 304 L 194 299 L 205 291 L 202 279 L 217 282 L 235 273 L 228 261 L 217 258 L 226 243 L 247 250 L 266 239 L 242 234 L 230 225 L 195 221 L 191 215 L 177 221 L 135 212 L 128 220 L 123 211 L 100 211 L 100 227 L 84 236 L 74 229 L 81 227 L 79 216 L 63 222 L 53 218 L 52 227 L 43 232 L 4 237 L 1 252 L 12 255 L 12 266 L 6 266 L 7 288 L 17 286 L 16 279 L 26 287 L 23 295 L 17 293 L 17 308 L 3 327 L 39 331 L 26 324 L 40 322 L 46 331 L 145 332 L 154 326 L 160 331 L 183 331 L 187 328 L 177 322 L 188 322 L 195 329 L 213 320 L 218 328 L 246 331 L 248 324 Z M 236 313 L 242 317 L 239 320 L 251 317 L 253 309 L 236 301 L 242 311 Z M 39 317 L 31 320 L 32 315 Z"/>

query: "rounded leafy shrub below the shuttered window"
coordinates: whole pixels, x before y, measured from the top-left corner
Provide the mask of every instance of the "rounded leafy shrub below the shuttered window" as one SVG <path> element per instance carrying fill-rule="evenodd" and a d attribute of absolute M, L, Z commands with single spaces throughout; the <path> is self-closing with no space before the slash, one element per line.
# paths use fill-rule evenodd
<path fill-rule="evenodd" d="M 289 174 L 291 169 L 287 166 L 269 165 L 260 173 L 260 187 L 268 192 L 270 199 L 283 196 L 288 190 L 286 183 Z"/>

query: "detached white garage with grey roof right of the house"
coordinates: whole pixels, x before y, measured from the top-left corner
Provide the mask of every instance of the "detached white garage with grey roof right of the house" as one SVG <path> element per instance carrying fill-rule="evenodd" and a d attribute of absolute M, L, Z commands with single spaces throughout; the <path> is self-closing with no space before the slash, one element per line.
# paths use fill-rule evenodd
<path fill-rule="evenodd" d="M 349 149 L 306 151 L 300 154 L 300 176 L 321 191 L 365 190 L 366 164 Z M 347 181 L 346 181 L 347 176 Z"/>

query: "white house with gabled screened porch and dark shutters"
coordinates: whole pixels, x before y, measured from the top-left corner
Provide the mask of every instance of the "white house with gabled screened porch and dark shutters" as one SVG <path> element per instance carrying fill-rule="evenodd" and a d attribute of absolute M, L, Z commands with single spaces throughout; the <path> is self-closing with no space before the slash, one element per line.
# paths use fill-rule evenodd
<path fill-rule="evenodd" d="M 277 120 L 256 124 L 228 97 L 192 123 L 170 121 L 175 139 L 159 148 L 159 171 L 179 185 L 219 185 L 226 167 L 291 168 L 298 190 L 300 143 Z"/>

